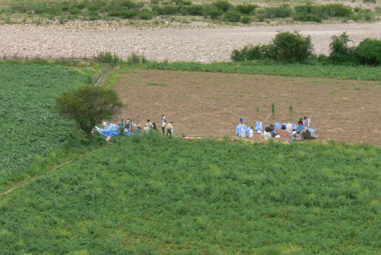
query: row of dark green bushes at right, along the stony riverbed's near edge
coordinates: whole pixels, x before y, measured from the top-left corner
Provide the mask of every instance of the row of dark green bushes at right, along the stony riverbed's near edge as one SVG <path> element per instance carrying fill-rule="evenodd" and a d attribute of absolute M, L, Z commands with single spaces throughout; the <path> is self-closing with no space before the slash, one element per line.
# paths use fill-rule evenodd
<path fill-rule="evenodd" d="M 381 40 L 364 39 L 357 46 L 348 46 L 348 35 L 334 35 L 330 43 L 330 55 L 314 55 L 310 35 L 304 37 L 297 31 L 278 33 L 272 44 L 247 45 L 235 49 L 231 60 L 278 60 L 283 62 L 308 62 L 315 60 L 323 64 L 371 64 L 381 65 Z"/>

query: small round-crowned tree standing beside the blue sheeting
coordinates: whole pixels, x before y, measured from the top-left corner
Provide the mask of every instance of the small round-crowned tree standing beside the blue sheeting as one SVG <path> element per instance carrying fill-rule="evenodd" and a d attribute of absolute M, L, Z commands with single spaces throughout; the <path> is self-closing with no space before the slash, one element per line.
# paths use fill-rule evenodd
<path fill-rule="evenodd" d="M 95 125 L 123 105 L 114 90 L 92 85 L 65 92 L 55 102 L 60 114 L 73 118 L 90 139 Z"/>

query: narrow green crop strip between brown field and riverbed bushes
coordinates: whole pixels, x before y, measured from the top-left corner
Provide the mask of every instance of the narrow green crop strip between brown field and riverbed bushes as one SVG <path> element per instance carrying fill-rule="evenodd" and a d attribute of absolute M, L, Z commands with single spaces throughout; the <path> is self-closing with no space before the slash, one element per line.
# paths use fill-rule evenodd
<path fill-rule="evenodd" d="M 254 73 L 274 76 L 301 76 L 310 78 L 338 78 L 351 80 L 381 80 L 381 67 L 348 67 L 342 65 L 286 64 L 282 62 L 254 60 L 246 62 L 148 62 L 148 69 L 208 71 L 224 73 Z"/>

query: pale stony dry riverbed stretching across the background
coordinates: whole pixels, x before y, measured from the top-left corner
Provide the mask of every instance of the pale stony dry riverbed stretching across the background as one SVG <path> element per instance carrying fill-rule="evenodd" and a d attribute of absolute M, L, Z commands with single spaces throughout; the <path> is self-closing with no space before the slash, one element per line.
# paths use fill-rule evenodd
<path fill-rule="evenodd" d="M 189 26 L 192 26 L 191 24 Z M 64 26 L 1 25 L 3 55 L 34 58 L 91 57 L 112 51 L 126 58 L 132 52 L 150 60 L 228 61 L 233 49 L 266 44 L 277 30 L 299 30 L 311 35 L 315 53 L 329 53 L 332 35 L 344 31 L 355 44 L 366 37 L 381 39 L 381 22 L 372 24 L 307 24 L 233 28 L 128 28 L 72 23 Z"/>

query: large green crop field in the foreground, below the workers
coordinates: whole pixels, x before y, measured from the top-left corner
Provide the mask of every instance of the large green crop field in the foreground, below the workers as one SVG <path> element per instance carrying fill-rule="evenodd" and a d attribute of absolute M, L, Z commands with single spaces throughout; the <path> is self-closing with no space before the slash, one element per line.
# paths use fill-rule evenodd
<path fill-rule="evenodd" d="M 127 137 L 0 197 L 0 247 L 379 254 L 380 155 L 380 147 L 333 142 Z"/>

